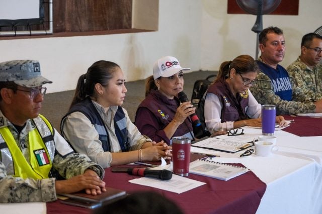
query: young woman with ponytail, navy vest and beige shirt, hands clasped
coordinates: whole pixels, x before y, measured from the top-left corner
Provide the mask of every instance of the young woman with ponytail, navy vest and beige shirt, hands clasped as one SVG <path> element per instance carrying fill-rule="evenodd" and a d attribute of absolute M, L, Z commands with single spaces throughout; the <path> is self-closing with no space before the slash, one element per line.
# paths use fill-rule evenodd
<path fill-rule="evenodd" d="M 114 62 L 95 62 L 79 77 L 61 133 L 78 152 L 104 168 L 171 156 L 166 143 L 141 135 L 121 107 L 127 89 L 121 68 Z M 170 158 L 170 157 L 169 157 Z"/>

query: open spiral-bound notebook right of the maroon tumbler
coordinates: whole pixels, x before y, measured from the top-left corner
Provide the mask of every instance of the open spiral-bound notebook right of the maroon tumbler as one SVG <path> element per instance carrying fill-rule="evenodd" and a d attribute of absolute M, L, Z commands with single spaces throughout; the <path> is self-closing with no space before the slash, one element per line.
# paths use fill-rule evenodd
<path fill-rule="evenodd" d="M 190 163 L 189 173 L 216 178 L 219 180 L 230 180 L 248 172 L 246 167 L 233 166 L 230 164 L 209 161 L 205 159 L 195 160 Z"/>

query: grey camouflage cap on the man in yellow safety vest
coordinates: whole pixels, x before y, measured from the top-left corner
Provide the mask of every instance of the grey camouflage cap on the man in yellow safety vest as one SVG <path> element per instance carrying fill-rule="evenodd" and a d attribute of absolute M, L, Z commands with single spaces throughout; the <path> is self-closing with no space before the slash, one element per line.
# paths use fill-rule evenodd
<path fill-rule="evenodd" d="M 24 87 L 38 87 L 52 81 L 41 76 L 36 60 L 13 60 L 0 63 L 0 81 L 13 81 Z"/>

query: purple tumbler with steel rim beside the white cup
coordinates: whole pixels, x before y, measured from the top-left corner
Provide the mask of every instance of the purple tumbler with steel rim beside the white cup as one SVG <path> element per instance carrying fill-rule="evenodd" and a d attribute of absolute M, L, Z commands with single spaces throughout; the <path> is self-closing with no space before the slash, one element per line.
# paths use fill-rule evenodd
<path fill-rule="evenodd" d="M 262 105 L 262 134 L 274 135 L 276 119 L 275 105 Z"/>

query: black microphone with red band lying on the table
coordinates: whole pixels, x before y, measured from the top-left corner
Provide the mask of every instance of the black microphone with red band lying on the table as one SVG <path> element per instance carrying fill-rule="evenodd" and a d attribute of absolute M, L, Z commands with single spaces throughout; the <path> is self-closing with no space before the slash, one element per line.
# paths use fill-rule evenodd
<path fill-rule="evenodd" d="M 161 180 L 170 180 L 172 178 L 172 172 L 166 169 L 152 170 L 147 168 L 113 167 L 112 172 L 127 172 L 129 175 L 152 177 Z"/>

